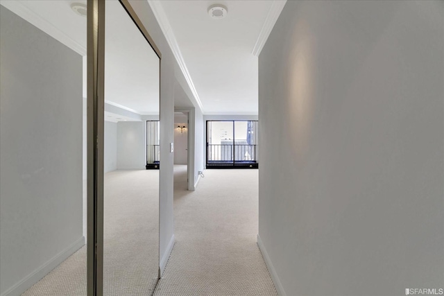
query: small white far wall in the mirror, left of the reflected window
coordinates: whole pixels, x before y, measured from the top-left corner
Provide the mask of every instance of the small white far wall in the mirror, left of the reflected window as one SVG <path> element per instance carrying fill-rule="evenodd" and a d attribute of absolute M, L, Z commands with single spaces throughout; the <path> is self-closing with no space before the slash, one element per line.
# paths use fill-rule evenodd
<path fill-rule="evenodd" d="M 146 122 L 117 123 L 117 169 L 144 170 L 146 165 Z"/>

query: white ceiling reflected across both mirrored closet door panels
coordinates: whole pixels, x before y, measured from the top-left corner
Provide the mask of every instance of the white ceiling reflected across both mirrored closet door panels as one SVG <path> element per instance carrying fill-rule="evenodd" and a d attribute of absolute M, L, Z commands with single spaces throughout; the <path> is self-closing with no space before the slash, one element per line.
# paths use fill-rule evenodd
<path fill-rule="evenodd" d="M 85 0 L 0 3 L 80 55 L 86 54 L 86 17 L 71 10 L 71 3 L 86 4 Z M 107 1 L 105 14 L 105 101 L 141 115 L 159 114 L 159 58 L 119 1 Z"/>

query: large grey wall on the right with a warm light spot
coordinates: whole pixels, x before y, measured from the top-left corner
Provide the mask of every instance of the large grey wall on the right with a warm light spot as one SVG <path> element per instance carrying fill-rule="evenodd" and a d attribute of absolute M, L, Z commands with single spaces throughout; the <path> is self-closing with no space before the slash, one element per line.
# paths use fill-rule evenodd
<path fill-rule="evenodd" d="M 443 1 L 287 1 L 259 56 L 259 243 L 282 294 L 444 287 L 443 20 Z"/>

